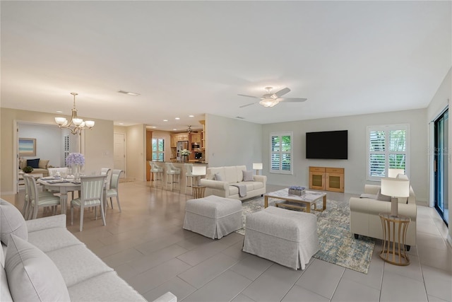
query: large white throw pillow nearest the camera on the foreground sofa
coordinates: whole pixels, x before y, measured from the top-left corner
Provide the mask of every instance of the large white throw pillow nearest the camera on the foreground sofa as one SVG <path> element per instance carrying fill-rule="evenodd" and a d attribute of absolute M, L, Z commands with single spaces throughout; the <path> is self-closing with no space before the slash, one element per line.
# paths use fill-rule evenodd
<path fill-rule="evenodd" d="M 5 270 L 14 301 L 70 301 L 57 265 L 42 250 L 11 235 Z"/>

